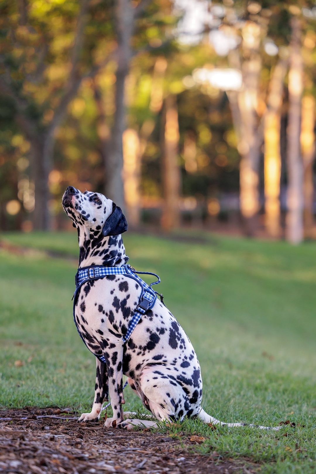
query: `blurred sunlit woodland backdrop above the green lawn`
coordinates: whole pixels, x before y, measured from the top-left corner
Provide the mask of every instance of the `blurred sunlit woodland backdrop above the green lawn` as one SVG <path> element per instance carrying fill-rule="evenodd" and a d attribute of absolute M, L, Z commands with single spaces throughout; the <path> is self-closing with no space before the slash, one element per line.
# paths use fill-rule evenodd
<path fill-rule="evenodd" d="M 2 0 L 0 229 L 316 237 L 313 1 Z"/>

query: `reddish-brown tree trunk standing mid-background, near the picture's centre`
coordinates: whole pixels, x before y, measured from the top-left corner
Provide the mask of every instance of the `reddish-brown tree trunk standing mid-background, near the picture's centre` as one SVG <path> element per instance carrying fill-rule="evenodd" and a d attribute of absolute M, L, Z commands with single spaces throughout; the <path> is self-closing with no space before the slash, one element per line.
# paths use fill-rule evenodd
<path fill-rule="evenodd" d="M 170 231 L 180 225 L 179 194 L 181 174 L 178 157 L 179 125 L 176 97 L 164 100 L 163 134 L 163 215 L 162 227 Z"/>

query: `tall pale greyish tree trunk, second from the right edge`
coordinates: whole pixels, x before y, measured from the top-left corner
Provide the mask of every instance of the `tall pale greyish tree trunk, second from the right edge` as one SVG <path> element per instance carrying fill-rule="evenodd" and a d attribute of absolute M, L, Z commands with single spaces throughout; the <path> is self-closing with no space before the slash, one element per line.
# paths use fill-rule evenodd
<path fill-rule="evenodd" d="M 299 19 L 291 20 L 289 56 L 289 119 L 287 129 L 288 193 L 286 238 L 292 244 L 303 240 L 303 164 L 300 156 L 300 117 L 303 90 L 303 60 Z"/>

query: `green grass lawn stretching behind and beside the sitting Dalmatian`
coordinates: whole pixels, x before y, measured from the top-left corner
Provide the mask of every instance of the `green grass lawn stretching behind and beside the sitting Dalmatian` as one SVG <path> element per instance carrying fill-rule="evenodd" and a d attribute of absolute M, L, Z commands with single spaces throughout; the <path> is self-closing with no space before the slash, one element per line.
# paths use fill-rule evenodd
<path fill-rule="evenodd" d="M 77 234 L 3 234 L 12 244 L 78 255 Z M 295 428 L 261 432 L 195 420 L 186 431 L 264 473 L 316 472 L 316 244 L 211 237 L 206 244 L 124 237 L 130 263 L 158 273 L 168 308 L 196 348 L 203 408 L 223 421 Z M 0 253 L 0 406 L 90 410 L 94 357 L 72 321 L 77 265 Z M 141 404 L 126 389 L 128 409 Z M 303 426 L 304 425 L 304 426 Z M 283 435 L 287 436 L 283 436 Z"/>

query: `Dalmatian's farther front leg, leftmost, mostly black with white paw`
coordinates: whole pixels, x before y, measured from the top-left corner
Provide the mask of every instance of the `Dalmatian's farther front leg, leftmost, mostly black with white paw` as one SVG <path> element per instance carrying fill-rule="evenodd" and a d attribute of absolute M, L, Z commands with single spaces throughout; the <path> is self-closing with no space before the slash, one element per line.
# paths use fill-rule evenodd
<path fill-rule="evenodd" d="M 95 381 L 95 392 L 92 410 L 90 413 L 82 413 L 79 421 L 98 421 L 104 401 L 108 401 L 108 371 L 107 365 L 96 357 L 97 375 Z"/>

